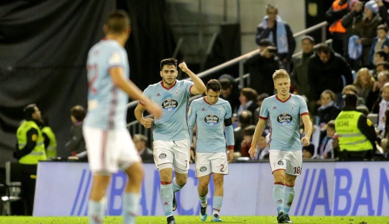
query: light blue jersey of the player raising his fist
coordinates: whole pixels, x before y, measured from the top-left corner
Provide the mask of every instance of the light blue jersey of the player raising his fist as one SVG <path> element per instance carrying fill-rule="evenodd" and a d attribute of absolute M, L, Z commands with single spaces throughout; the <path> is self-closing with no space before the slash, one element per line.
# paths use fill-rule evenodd
<path fill-rule="evenodd" d="M 186 121 L 190 87 L 193 82 L 176 80 L 176 83 L 166 88 L 163 81 L 148 86 L 143 95 L 162 107 L 162 116 L 154 119 L 153 139 L 177 141 L 189 138 Z M 144 105 L 143 102 L 139 102 Z"/>

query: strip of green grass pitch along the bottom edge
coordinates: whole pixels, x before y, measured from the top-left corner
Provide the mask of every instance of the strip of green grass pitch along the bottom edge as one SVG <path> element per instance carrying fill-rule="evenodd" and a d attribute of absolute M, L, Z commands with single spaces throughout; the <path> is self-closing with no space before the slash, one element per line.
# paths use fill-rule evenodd
<path fill-rule="evenodd" d="M 223 223 L 277 223 L 275 216 L 221 216 Z M 335 224 L 389 224 L 389 216 L 291 216 L 294 223 L 335 223 Z M 205 223 L 211 222 L 211 217 L 200 221 L 199 216 L 175 216 L 177 223 Z M 0 216 L 0 224 L 27 223 L 27 224 L 56 224 L 56 223 L 87 223 L 84 216 L 73 217 L 32 217 L 32 216 Z M 104 223 L 122 223 L 121 216 L 107 216 Z M 164 216 L 138 216 L 136 223 L 166 223 Z"/>

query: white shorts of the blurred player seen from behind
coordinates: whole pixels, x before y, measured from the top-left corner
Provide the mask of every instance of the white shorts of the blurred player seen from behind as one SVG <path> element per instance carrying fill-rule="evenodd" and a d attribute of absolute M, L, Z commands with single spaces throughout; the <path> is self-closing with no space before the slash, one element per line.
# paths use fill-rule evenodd
<path fill-rule="evenodd" d="M 89 167 L 95 174 L 112 174 L 141 158 L 127 129 L 83 127 Z"/>

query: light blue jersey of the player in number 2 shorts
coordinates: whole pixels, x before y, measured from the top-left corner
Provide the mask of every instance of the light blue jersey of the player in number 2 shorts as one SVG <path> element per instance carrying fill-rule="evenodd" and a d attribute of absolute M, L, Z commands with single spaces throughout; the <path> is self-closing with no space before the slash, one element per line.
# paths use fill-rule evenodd
<path fill-rule="evenodd" d="M 226 145 L 234 145 L 232 125 L 225 127 L 224 120 L 232 116 L 228 101 L 219 98 L 211 105 L 205 97 L 193 100 L 188 109 L 188 127 L 192 136 L 194 124 L 197 124 L 196 152 L 225 152 Z"/>

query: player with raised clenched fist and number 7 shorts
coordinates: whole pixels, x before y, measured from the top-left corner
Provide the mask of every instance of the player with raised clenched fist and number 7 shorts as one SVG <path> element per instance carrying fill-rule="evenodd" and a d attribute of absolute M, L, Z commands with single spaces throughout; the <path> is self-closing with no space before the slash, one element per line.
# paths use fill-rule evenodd
<path fill-rule="evenodd" d="M 186 184 L 189 170 L 189 131 L 186 123 L 188 99 L 190 94 L 202 94 L 206 90 L 203 81 L 184 62 L 179 67 L 193 82 L 176 80 L 177 60 L 164 59 L 160 71 L 162 81 L 150 85 L 143 92 L 143 95 L 162 106 L 160 119 L 143 118 L 147 102 L 140 100 L 135 108 L 135 118 L 140 124 L 145 128 L 153 126 L 154 161 L 160 172 L 161 200 L 167 223 L 175 223 L 173 211 L 177 208 L 177 202 L 174 193 Z M 172 180 L 173 167 L 175 178 Z"/>

